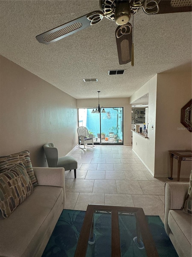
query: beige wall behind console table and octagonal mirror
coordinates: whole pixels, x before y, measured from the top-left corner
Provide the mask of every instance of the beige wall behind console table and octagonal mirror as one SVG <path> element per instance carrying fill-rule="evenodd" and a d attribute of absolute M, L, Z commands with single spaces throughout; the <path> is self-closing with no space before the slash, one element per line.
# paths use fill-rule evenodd
<path fill-rule="evenodd" d="M 155 139 L 156 177 L 170 175 L 169 150 L 191 149 L 192 133 L 181 124 L 181 108 L 191 99 L 191 72 L 167 72 L 157 77 Z M 177 161 L 173 174 L 176 177 Z M 181 177 L 189 177 L 191 161 L 182 161 Z"/>

